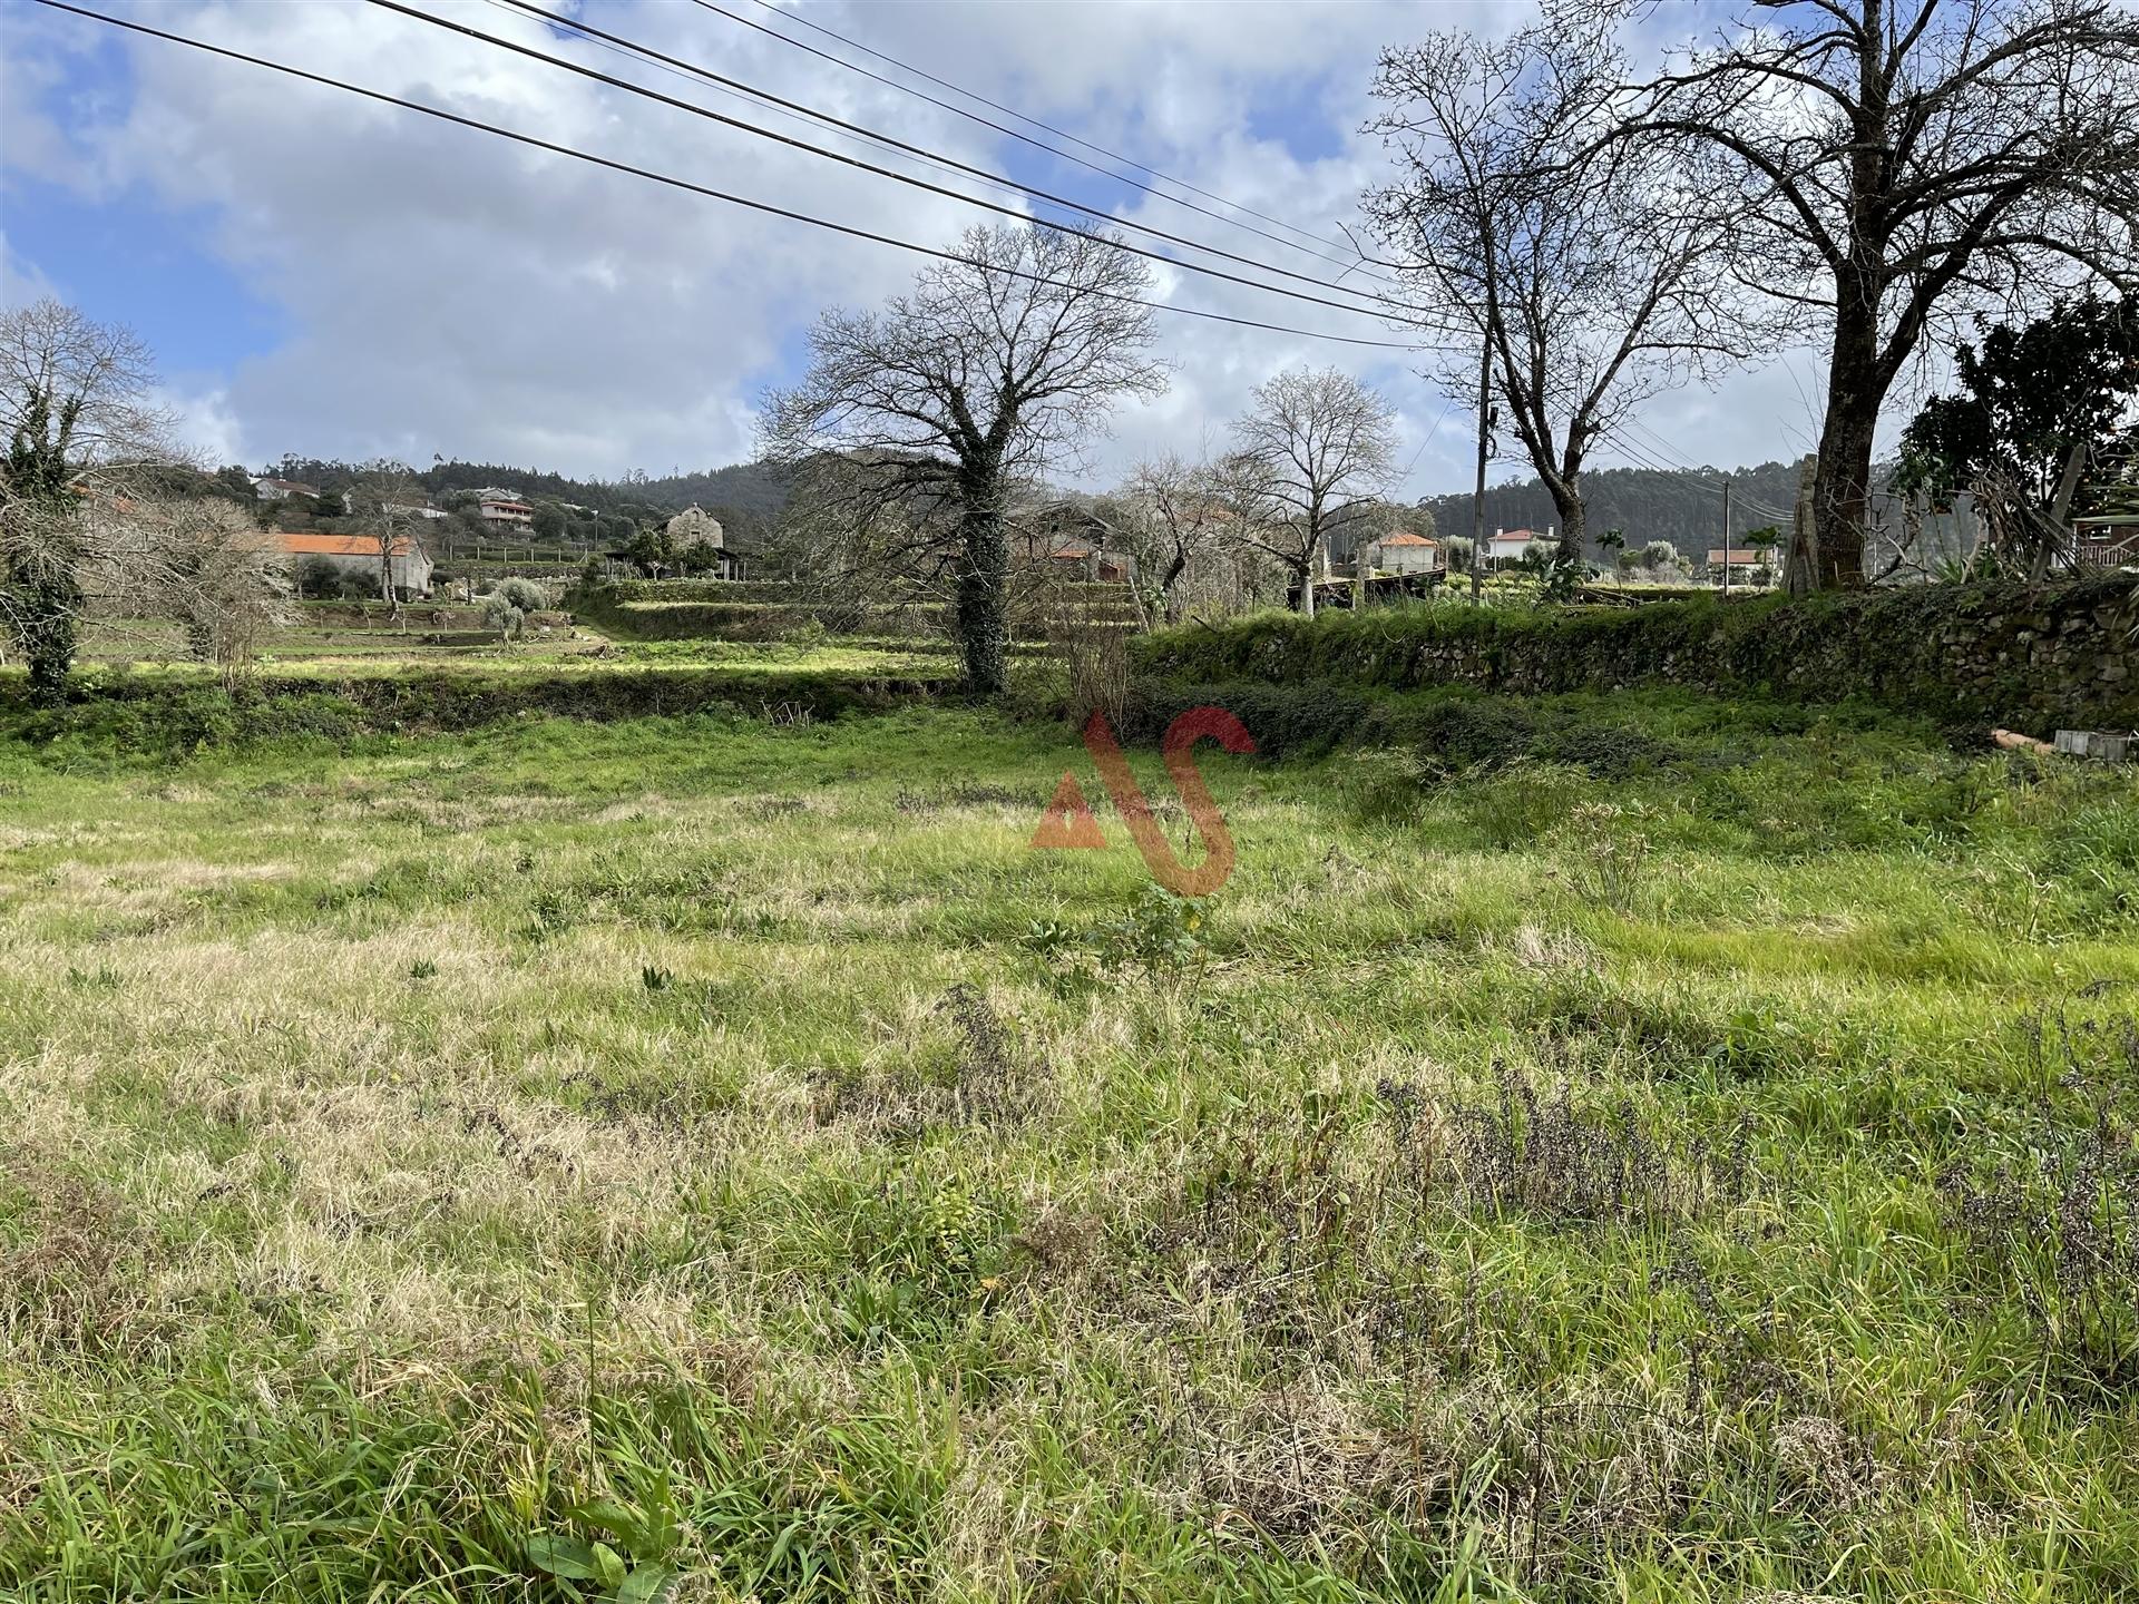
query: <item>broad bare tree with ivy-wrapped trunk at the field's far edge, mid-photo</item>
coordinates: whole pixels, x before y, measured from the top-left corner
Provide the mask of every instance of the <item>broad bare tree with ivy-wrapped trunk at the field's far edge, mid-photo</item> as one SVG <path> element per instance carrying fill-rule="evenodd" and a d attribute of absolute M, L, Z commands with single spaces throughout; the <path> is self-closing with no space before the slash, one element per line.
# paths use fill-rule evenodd
<path fill-rule="evenodd" d="M 909 543 L 952 590 L 967 682 L 1003 689 L 1014 483 L 1076 460 L 1117 402 L 1155 396 L 1149 269 L 1099 233 L 969 229 L 883 312 L 826 312 L 815 361 L 768 396 L 766 453 L 834 492 L 830 518 Z M 943 537 L 950 535 L 945 541 Z"/>

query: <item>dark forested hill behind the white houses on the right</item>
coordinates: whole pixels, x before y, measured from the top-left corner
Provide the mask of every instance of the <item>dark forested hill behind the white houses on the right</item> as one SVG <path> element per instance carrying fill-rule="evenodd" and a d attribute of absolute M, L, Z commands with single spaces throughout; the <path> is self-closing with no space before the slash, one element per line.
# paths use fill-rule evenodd
<path fill-rule="evenodd" d="M 1662 473 L 1658 468 L 1591 468 L 1583 475 L 1583 500 L 1589 505 L 1589 541 L 1606 528 L 1626 535 L 1628 550 L 1649 541 L 1671 541 L 1688 556 L 1707 556 L 1722 545 L 1724 496 L 1722 479 L 1730 475 L 1730 533 L 1743 537 L 1750 528 L 1790 526 L 1797 505 L 1797 464 L 1763 462 L 1758 468 L 1694 468 Z M 1469 494 L 1427 496 L 1442 535 L 1469 535 Z M 1536 477 L 1484 492 L 1484 533 L 1495 528 L 1536 528 L 1557 524 L 1553 498 Z"/>

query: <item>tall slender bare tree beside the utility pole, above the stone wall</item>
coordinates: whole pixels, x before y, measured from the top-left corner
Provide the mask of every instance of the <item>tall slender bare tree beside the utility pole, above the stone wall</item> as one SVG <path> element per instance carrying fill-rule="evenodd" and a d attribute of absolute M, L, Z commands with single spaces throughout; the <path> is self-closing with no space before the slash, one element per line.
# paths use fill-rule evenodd
<path fill-rule="evenodd" d="M 1752 340 L 1722 257 L 1724 222 L 1683 171 L 1591 160 L 1564 171 L 1611 64 L 1591 24 L 1504 41 L 1431 34 L 1382 51 L 1369 126 L 1401 175 L 1369 190 L 1375 235 L 1482 344 L 1508 421 L 1585 560 L 1583 466 L 1643 400 L 1707 376 Z M 1459 370 L 1459 366 L 1463 370 Z M 1476 383 L 1474 355 L 1437 376 Z"/>

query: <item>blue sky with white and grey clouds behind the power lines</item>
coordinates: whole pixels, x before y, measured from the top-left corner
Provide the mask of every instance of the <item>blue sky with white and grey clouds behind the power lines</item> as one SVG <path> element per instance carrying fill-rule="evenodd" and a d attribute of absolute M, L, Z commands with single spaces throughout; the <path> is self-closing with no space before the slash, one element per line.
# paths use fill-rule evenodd
<path fill-rule="evenodd" d="M 1236 225 L 1301 244 L 1309 235 L 1341 242 L 1358 192 L 1388 171 L 1380 143 L 1360 133 L 1375 51 L 1429 28 L 1497 30 L 1519 15 L 1493 0 L 785 0 L 785 11 L 759 0 L 717 0 L 719 9 L 697 0 L 543 2 L 1121 218 L 1322 274 L 1337 269 Z M 783 150 L 366 0 L 81 4 L 858 229 L 945 244 L 984 220 L 958 201 Z M 496 0 L 411 4 L 952 188 L 990 192 L 563 36 Z M 1191 195 L 1224 214 L 1198 216 L 766 32 L 1065 143 L 798 19 L 1288 227 Z M 888 246 L 126 36 L 28 0 L 6 0 L 0 28 L 0 295 L 51 293 L 139 329 L 158 353 L 193 443 L 216 460 L 261 466 L 295 451 L 428 464 L 443 453 L 584 477 L 744 460 L 755 402 L 766 385 L 794 376 L 815 314 L 828 304 L 877 304 L 918 265 Z M 1078 154 L 1119 169 L 1091 150 Z M 1367 319 L 1166 267 L 1157 293 L 1176 306 L 1388 338 Z M 1153 449 L 1194 451 L 1217 441 L 1262 379 L 1328 361 L 1397 402 L 1410 494 L 1469 481 L 1463 404 L 1450 404 L 1403 351 L 1172 314 L 1159 314 L 1159 331 L 1172 389 L 1121 411 L 1114 436 L 1084 471 L 1091 483 L 1119 477 Z M 1641 441 L 1653 456 L 1694 464 L 1797 456 L 1816 430 L 1818 387 L 1818 357 L 1784 353 L 1718 389 L 1653 402 L 1641 415 Z M 1495 477 L 1521 473 L 1506 464 Z"/>

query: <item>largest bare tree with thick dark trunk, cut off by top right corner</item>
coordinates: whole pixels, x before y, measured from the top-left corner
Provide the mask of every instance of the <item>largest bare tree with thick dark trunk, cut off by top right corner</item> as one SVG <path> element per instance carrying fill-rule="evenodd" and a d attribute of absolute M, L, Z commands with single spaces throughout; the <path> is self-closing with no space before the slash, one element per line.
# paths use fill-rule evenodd
<path fill-rule="evenodd" d="M 1741 212 L 1737 272 L 1829 334 L 1818 586 L 1865 582 L 1874 430 L 1927 331 L 2139 280 L 2135 103 L 2139 13 L 2118 0 L 1758 0 L 1600 103 L 1585 154 L 1686 160 Z"/>

